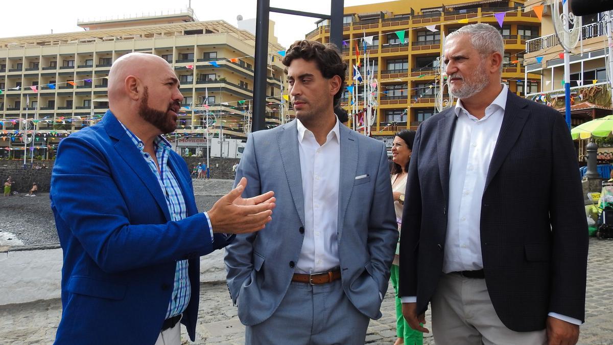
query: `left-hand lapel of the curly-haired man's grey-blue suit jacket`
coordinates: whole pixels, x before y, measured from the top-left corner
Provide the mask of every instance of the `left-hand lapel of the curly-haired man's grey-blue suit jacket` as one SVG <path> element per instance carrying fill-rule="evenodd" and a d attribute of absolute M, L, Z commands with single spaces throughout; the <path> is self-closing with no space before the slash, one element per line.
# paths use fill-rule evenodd
<path fill-rule="evenodd" d="M 304 196 L 302 195 L 302 172 L 300 170 L 300 152 L 298 150 L 298 130 L 296 121 L 284 125 L 276 134 L 276 140 L 281 153 L 281 161 L 289 192 L 292 194 L 294 206 L 300 217 L 302 225 L 305 225 Z"/>

